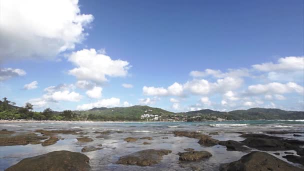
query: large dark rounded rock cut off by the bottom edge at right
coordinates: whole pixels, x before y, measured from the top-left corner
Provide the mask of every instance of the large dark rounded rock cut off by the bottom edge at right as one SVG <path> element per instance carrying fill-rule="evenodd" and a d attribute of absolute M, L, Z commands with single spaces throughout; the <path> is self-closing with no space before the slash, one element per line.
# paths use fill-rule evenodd
<path fill-rule="evenodd" d="M 246 155 L 243 155 L 239 160 L 233 161 L 227 164 L 223 164 L 219 168 L 220 171 L 285 171 L 303 170 L 299 167 L 293 166 L 277 157 L 261 151 L 253 151 Z"/>

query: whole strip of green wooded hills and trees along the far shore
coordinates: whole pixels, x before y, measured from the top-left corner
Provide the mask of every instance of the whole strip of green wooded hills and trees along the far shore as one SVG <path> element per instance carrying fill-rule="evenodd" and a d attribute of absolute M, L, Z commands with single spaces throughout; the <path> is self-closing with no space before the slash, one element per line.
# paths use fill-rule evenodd
<path fill-rule="evenodd" d="M 286 111 L 277 108 L 249 108 L 247 110 L 215 111 L 202 109 L 188 112 L 170 112 L 146 105 L 130 107 L 100 107 L 89 110 L 54 111 L 45 108 L 33 111 L 33 105 L 16 106 L 6 97 L 0 100 L 0 119 L 35 120 L 92 120 L 92 121 L 204 121 L 204 120 L 259 120 L 259 119 L 304 119 L 304 111 Z"/>

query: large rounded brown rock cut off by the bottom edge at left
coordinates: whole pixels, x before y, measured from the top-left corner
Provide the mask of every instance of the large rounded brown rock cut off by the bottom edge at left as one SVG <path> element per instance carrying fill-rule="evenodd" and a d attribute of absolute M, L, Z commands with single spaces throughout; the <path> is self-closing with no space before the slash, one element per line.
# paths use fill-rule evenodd
<path fill-rule="evenodd" d="M 89 158 L 79 152 L 66 150 L 52 151 L 42 155 L 24 158 L 17 164 L 8 167 L 7 171 L 32 171 L 32 170 L 89 170 Z"/>

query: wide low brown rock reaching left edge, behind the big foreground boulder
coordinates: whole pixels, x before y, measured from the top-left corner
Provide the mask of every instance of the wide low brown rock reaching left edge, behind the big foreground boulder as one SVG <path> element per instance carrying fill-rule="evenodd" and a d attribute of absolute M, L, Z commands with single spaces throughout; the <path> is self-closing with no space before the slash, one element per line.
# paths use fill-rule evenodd
<path fill-rule="evenodd" d="M 0 146 L 6 145 L 26 145 L 26 144 L 38 144 L 40 140 L 47 139 L 47 136 L 37 136 L 35 133 L 27 133 L 14 136 L 0 137 Z"/>

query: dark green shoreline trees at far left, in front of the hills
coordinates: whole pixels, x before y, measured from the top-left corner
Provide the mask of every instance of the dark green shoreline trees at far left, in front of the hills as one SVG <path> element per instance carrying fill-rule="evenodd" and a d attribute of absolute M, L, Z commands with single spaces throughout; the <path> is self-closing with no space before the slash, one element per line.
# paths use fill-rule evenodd
<path fill-rule="evenodd" d="M 33 105 L 29 102 L 23 107 L 14 106 L 15 102 L 8 100 L 6 97 L 0 100 L 0 119 L 35 119 L 35 120 L 80 120 L 79 114 L 71 110 L 55 112 L 51 108 L 46 108 L 42 112 L 33 111 Z"/>

